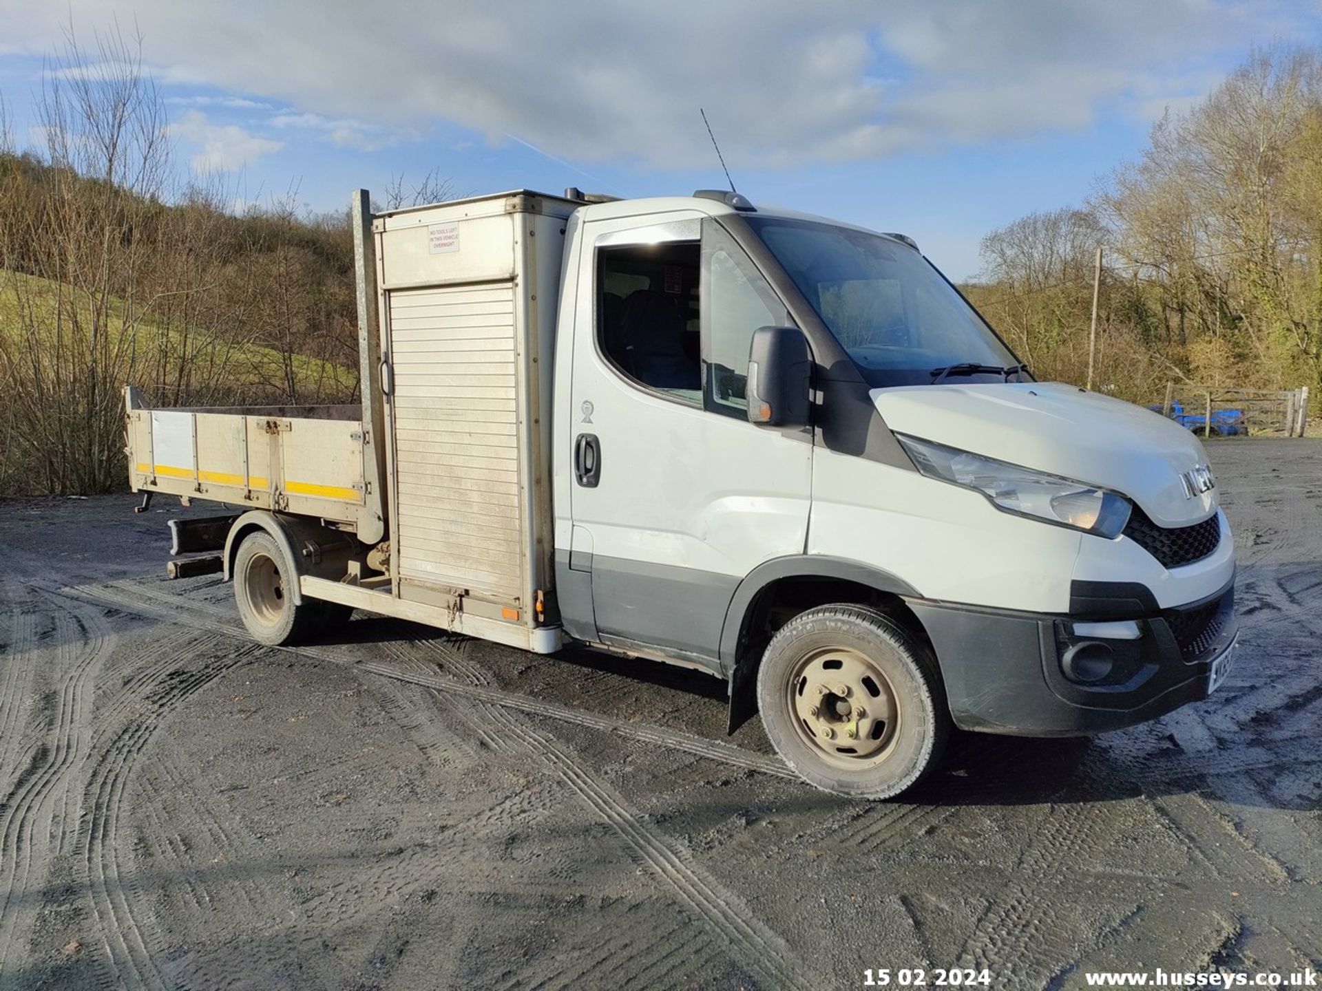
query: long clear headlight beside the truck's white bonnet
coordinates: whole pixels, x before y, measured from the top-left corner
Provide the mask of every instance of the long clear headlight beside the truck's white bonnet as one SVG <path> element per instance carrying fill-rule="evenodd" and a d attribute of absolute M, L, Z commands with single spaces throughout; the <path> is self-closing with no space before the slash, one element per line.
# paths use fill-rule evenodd
<path fill-rule="evenodd" d="M 931 440 L 902 433 L 895 436 L 923 474 L 976 489 L 1005 513 L 1035 517 L 1107 538 L 1118 536 L 1129 522 L 1129 499 L 1113 492 Z"/>

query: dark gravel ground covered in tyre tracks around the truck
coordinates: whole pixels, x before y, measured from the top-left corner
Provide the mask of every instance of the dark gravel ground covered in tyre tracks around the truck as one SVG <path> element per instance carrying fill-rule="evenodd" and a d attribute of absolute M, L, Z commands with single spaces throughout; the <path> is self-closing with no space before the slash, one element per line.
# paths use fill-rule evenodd
<path fill-rule="evenodd" d="M 0 987 L 1318 967 L 1322 441 L 1210 452 L 1228 684 L 1091 743 L 961 737 L 875 805 L 787 777 L 756 720 L 726 739 L 706 675 L 370 617 L 258 647 L 218 577 L 163 579 L 189 510 L 3 502 Z"/>

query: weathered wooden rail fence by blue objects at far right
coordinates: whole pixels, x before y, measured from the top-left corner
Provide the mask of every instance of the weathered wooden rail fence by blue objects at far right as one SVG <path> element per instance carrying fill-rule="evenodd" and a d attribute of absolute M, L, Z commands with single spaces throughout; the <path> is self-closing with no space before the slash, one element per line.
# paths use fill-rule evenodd
<path fill-rule="evenodd" d="M 1232 388 L 1167 382 L 1166 398 L 1149 408 L 1204 437 L 1302 437 L 1307 429 L 1309 387 Z"/>

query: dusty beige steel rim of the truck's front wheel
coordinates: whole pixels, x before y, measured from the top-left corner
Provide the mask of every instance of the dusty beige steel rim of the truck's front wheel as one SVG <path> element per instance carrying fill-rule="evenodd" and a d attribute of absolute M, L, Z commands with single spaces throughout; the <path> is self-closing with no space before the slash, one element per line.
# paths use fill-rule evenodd
<path fill-rule="evenodd" d="M 800 658 L 787 704 L 798 739 L 836 768 L 871 768 L 895 751 L 902 719 L 895 688 L 858 650 L 824 647 Z"/>

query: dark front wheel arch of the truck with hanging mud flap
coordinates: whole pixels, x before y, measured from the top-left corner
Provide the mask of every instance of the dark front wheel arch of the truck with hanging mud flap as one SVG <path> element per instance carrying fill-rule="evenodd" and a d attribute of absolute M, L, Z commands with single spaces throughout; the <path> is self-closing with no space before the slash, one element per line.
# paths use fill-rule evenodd
<path fill-rule="evenodd" d="M 755 677 L 761 654 L 755 647 L 759 628 L 771 618 L 777 604 L 800 596 L 804 609 L 833 601 L 884 606 L 887 612 L 899 612 L 914 632 L 927 640 L 925 629 L 904 604 L 904 599 L 921 597 L 919 591 L 884 568 L 817 554 L 764 562 L 739 583 L 720 630 L 720 665 L 730 680 L 731 733 L 758 710 Z"/>

